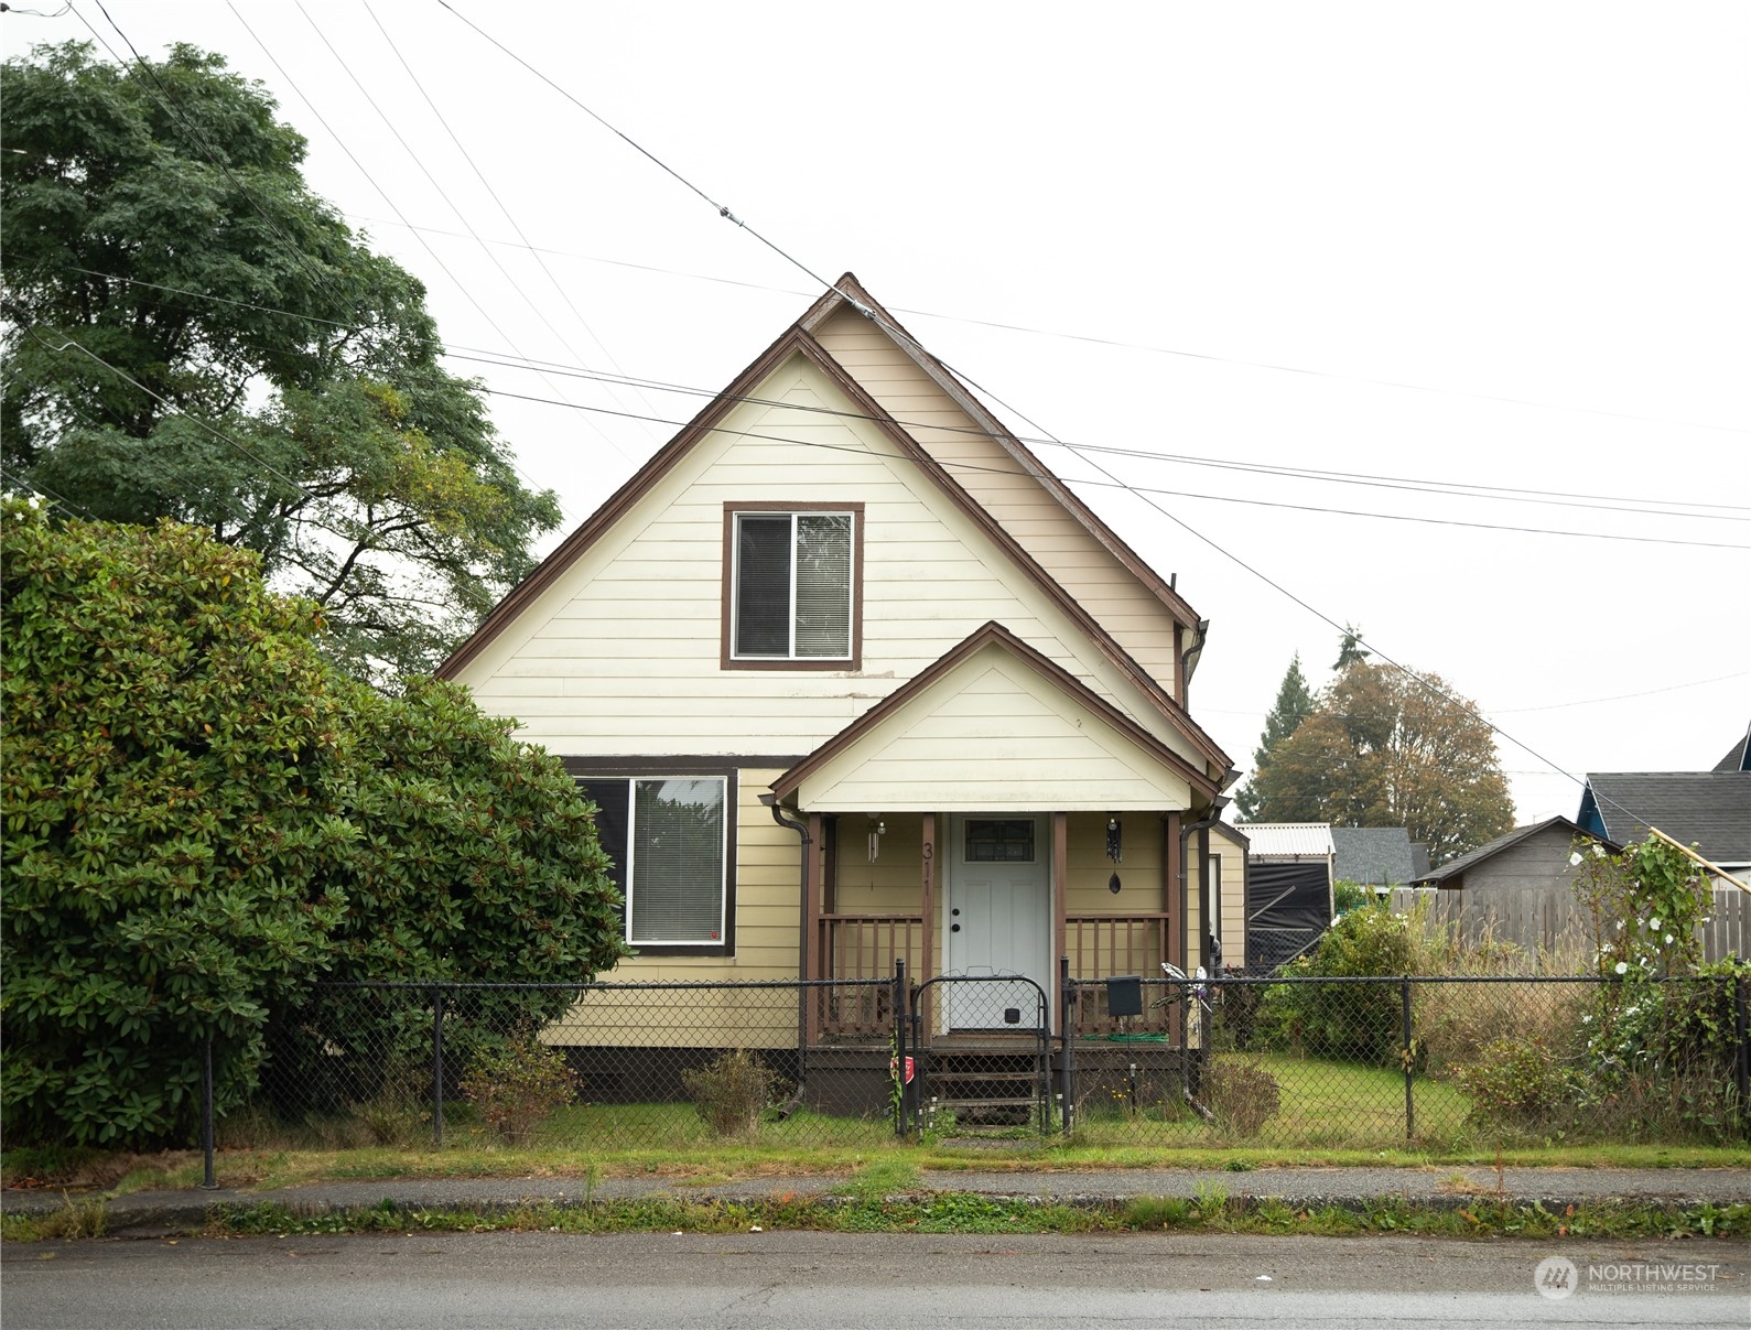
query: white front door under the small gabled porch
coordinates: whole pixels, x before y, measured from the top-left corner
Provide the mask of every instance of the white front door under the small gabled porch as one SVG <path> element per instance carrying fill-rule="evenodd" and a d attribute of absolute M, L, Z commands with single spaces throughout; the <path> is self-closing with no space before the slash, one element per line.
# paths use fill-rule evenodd
<path fill-rule="evenodd" d="M 1044 817 L 949 819 L 954 847 L 946 901 L 947 973 L 1026 975 L 1051 992 L 1052 880 L 1051 838 Z M 1033 985 L 1000 992 L 984 984 L 946 984 L 949 1029 L 1002 1027 L 1005 1012 L 1021 1010 L 1033 1027 Z"/>

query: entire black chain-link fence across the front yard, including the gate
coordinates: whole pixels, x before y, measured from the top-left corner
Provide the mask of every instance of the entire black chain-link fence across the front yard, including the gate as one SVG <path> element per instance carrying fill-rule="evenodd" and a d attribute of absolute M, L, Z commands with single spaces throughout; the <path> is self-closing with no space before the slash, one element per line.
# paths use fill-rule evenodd
<path fill-rule="evenodd" d="M 219 1143 L 1742 1141 L 1746 982 L 317 985 Z M 1068 1115 L 1065 1111 L 1068 1104 Z M 1068 1120 L 1066 1120 L 1068 1118 Z"/>

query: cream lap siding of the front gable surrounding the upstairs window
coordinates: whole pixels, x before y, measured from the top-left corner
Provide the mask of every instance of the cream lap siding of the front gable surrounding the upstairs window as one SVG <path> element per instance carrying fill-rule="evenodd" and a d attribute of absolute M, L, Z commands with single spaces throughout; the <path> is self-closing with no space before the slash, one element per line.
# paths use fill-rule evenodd
<path fill-rule="evenodd" d="M 1068 623 L 1042 618 L 1042 593 L 996 576 L 996 551 L 914 464 L 881 455 L 893 444 L 872 427 L 744 411 L 737 429 L 844 448 L 702 441 L 697 466 L 683 462 L 550 592 L 515 653 L 469 670 L 482 705 L 559 752 L 804 754 L 993 618 L 1117 702 L 1059 635 Z M 863 504 L 860 672 L 720 668 L 723 504 L 748 500 Z"/>

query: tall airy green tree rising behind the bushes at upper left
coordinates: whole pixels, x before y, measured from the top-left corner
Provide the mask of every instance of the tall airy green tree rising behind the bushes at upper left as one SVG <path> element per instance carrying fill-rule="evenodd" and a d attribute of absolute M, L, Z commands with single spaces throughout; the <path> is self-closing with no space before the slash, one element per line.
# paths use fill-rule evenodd
<path fill-rule="evenodd" d="M 324 609 L 359 677 L 431 668 L 559 523 L 425 290 L 305 186 L 305 140 L 189 46 L 5 63 L 4 458 L 89 516 L 205 527 Z"/>

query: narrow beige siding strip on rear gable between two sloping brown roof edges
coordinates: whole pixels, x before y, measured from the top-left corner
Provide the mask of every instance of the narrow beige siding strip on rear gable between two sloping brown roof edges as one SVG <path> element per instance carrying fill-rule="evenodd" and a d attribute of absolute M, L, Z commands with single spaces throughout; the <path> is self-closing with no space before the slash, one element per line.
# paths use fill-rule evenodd
<path fill-rule="evenodd" d="M 816 338 L 863 388 L 944 464 L 1035 560 L 1128 653 L 1171 691 L 1173 616 L 1058 499 L 972 420 L 883 331 L 854 312 L 830 317 Z"/>

